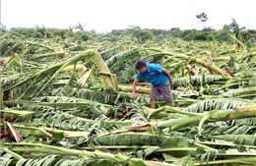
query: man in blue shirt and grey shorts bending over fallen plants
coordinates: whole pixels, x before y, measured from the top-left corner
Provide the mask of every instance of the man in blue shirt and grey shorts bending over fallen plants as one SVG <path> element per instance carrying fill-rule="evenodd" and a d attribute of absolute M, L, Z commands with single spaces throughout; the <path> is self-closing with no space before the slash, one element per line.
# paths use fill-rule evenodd
<path fill-rule="evenodd" d="M 150 104 L 151 108 L 156 107 L 156 100 L 161 99 L 161 95 L 166 103 L 174 107 L 174 101 L 172 92 L 170 89 L 170 84 L 172 79 L 169 72 L 165 68 L 161 68 L 157 64 L 146 64 L 144 61 L 138 61 L 136 64 L 136 69 L 139 71 L 132 85 L 132 96 L 131 98 L 136 98 L 136 85 L 143 77 L 153 86 L 151 88 L 150 94 Z"/>

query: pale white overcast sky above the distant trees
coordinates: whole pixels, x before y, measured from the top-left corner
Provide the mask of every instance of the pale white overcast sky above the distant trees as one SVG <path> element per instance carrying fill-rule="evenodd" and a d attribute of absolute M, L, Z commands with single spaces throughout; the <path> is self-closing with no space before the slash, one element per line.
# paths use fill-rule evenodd
<path fill-rule="evenodd" d="M 0 0 L 6 28 L 71 28 L 106 32 L 140 28 L 202 29 L 196 15 L 205 13 L 205 28 L 222 29 L 232 20 L 256 29 L 255 0 Z"/>

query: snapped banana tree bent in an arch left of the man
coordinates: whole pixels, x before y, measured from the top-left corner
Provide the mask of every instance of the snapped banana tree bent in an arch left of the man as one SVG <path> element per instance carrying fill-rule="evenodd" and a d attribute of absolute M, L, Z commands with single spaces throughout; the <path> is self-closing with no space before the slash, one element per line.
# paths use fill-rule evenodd
<path fill-rule="evenodd" d="M 29 95 L 30 93 L 34 93 L 36 95 L 44 95 L 49 92 L 45 92 L 48 90 L 48 86 L 51 85 L 51 83 L 55 80 L 57 75 L 61 72 L 64 72 L 65 70 L 68 70 L 70 68 L 70 65 L 73 65 L 74 71 L 76 69 L 76 63 L 82 60 L 86 60 L 90 57 L 95 58 L 96 66 L 99 69 L 99 72 L 101 73 L 101 76 L 104 80 L 104 85 L 106 89 L 109 89 L 112 93 L 116 91 L 117 83 L 115 76 L 112 75 L 108 69 L 108 67 L 105 65 L 105 63 L 102 61 L 102 58 L 98 54 L 96 50 L 88 50 L 86 52 L 83 52 L 73 58 L 66 59 L 62 62 L 59 62 L 57 64 L 51 65 L 46 67 L 45 69 L 36 71 L 36 73 L 32 73 L 27 77 L 25 80 L 18 81 L 18 83 L 12 83 L 12 85 L 4 88 L 3 91 L 7 91 L 9 93 L 14 94 L 15 96 L 13 98 L 23 98 L 24 95 Z M 69 70 L 68 70 L 69 71 Z M 90 75 L 92 72 L 89 72 Z M 85 75 L 82 79 L 81 85 L 84 85 L 86 80 L 88 79 L 89 75 Z M 11 80 L 12 78 L 20 78 L 19 76 L 10 76 L 8 78 L 3 78 L 4 80 L 3 85 L 8 85 L 8 80 Z M 45 78 L 47 78 L 45 80 Z M 71 77 L 72 78 L 72 77 Z M 39 83 L 37 87 L 34 86 L 36 83 Z M 79 86 L 79 87 L 80 87 Z M 22 89 L 22 91 L 21 91 Z M 32 92 L 33 91 L 33 92 Z"/>

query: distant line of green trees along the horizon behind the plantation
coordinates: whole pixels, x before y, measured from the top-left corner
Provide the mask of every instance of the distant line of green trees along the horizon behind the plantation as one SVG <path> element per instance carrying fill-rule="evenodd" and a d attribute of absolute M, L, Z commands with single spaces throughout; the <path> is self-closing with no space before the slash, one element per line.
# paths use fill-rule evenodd
<path fill-rule="evenodd" d="M 206 15 L 198 15 L 198 19 L 202 22 L 207 20 Z M 134 42 L 144 43 L 148 40 L 160 41 L 166 38 L 176 37 L 183 40 L 199 40 L 199 41 L 217 41 L 217 42 L 233 42 L 230 34 L 234 35 L 237 41 L 242 42 L 247 47 L 256 46 L 256 30 L 240 28 L 239 25 L 232 19 L 230 25 L 224 25 L 223 29 L 215 30 L 213 28 L 198 29 L 184 29 L 170 28 L 170 29 L 157 29 L 157 28 L 140 28 L 138 26 L 129 27 L 125 29 L 112 29 L 105 33 L 96 33 L 95 29 L 90 31 L 84 30 L 84 27 L 79 24 L 74 28 L 10 28 L 9 30 L 2 26 L 1 33 L 3 32 L 16 32 L 27 37 L 33 38 L 73 38 L 74 41 L 82 42 L 90 39 L 97 39 L 99 41 L 109 40 L 117 41 L 122 37 L 130 37 Z M 239 42 L 237 42 L 239 43 Z M 237 44 L 239 46 L 239 44 Z"/>

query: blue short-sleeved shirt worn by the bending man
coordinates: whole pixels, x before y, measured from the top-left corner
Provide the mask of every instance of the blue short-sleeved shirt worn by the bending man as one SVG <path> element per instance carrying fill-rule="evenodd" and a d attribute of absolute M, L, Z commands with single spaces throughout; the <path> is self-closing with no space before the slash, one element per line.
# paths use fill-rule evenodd
<path fill-rule="evenodd" d="M 147 64 L 148 71 L 146 73 L 140 73 L 136 75 L 136 79 L 140 80 L 145 78 L 149 83 L 160 86 L 161 84 L 167 83 L 168 78 L 162 73 L 162 68 L 157 64 Z"/>

